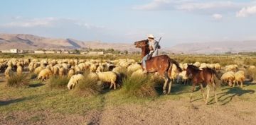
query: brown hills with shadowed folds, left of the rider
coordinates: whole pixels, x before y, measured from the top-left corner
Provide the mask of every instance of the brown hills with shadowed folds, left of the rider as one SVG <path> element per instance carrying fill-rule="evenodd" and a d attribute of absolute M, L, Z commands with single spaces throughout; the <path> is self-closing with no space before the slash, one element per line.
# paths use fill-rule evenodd
<path fill-rule="evenodd" d="M 117 49 L 137 51 L 132 44 L 105 43 L 105 42 L 83 42 L 80 40 L 54 39 L 25 34 L 0 34 L 0 50 L 3 49 Z"/>

